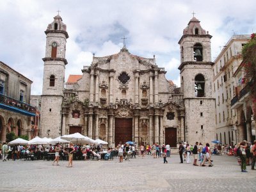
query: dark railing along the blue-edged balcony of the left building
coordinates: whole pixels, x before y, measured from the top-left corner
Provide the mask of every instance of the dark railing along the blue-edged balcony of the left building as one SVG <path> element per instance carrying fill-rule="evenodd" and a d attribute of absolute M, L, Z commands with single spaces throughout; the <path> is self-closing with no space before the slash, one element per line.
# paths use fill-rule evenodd
<path fill-rule="evenodd" d="M 22 109 L 24 111 L 29 111 L 31 113 L 36 113 L 36 108 L 33 106 L 30 106 L 29 104 L 26 104 L 24 102 L 21 102 L 19 100 L 13 99 L 12 97 L 8 97 L 6 95 L 3 95 L 0 93 L 0 103 L 5 104 L 7 106 L 12 106 L 15 108 Z"/>

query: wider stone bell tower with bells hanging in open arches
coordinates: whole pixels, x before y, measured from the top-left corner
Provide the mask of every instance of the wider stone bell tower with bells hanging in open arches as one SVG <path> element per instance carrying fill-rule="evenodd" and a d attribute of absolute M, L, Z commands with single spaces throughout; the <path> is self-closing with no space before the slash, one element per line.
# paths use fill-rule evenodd
<path fill-rule="evenodd" d="M 209 143 L 215 138 L 215 99 L 211 38 L 193 17 L 184 29 L 180 45 L 180 91 L 184 94 L 184 141 Z"/>

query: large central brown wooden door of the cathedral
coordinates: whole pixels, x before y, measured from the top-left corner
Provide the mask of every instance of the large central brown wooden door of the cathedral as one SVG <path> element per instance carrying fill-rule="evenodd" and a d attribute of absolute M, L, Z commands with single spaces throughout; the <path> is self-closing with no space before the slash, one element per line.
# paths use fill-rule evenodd
<path fill-rule="evenodd" d="M 115 118 L 115 146 L 132 141 L 132 118 Z"/>

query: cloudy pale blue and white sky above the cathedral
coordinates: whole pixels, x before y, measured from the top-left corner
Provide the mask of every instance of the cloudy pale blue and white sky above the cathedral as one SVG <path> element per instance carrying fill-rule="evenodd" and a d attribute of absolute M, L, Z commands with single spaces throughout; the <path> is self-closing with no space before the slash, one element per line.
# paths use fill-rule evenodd
<path fill-rule="evenodd" d="M 253 0 L 0 0 L 0 61 L 33 81 L 31 95 L 42 94 L 44 31 L 58 10 L 69 35 L 66 81 L 70 74 L 82 74 L 93 53 L 119 52 L 125 36 L 131 54 L 156 55 L 166 79 L 180 86 L 178 42 L 193 12 L 212 35 L 212 61 L 232 35 L 256 33 Z"/>

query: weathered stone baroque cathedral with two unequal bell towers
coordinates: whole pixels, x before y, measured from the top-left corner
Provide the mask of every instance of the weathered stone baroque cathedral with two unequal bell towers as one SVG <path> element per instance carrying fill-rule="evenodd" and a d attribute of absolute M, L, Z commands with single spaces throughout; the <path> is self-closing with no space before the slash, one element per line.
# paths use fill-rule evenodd
<path fill-rule="evenodd" d="M 155 56 L 128 51 L 97 57 L 83 74 L 65 83 L 67 26 L 60 15 L 48 25 L 41 95 L 42 137 L 80 132 L 108 141 L 177 147 L 179 141 L 214 140 L 215 99 L 212 97 L 211 35 L 193 17 L 180 45 L 180 88 L 166 79 Z"/>

